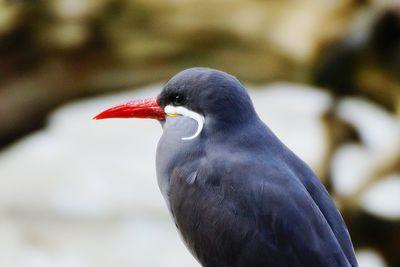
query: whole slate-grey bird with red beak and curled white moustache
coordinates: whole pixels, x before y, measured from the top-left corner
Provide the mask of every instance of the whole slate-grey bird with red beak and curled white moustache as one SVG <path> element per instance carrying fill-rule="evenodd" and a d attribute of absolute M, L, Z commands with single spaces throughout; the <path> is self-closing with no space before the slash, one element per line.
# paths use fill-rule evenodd
<path fill-rule="evenodd" d="M 158 186 L 203 267 L 357 267 L 346 224 L 309 166 L 259 118 L 234 76 L 194 67 L 156 97 L 94 119 L 161 123 Z"/>

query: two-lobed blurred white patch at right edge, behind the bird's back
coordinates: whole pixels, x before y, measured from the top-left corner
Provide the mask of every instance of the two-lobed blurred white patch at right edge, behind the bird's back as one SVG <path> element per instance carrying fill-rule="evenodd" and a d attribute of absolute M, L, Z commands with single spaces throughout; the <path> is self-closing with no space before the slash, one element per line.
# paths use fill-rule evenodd
<path fill-rule="evenodd" d="M 350 196 L 396 164 L 400 157 L 400 122 L 383 108 L 356 98 L 340 101 L 336 113 L 361 139 L 361 143 L 342 145 L 332 157 L 335 192 Z"/>

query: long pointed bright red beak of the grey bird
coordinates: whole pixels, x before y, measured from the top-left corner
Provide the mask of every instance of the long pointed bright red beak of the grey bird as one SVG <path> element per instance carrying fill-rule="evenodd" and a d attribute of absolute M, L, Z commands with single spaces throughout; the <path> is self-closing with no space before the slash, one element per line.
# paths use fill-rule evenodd
<path fill-rule="evenodd" d="M 93 119 L 110 118 L 147 118 L 156 120 L 165 120 L 165 112 L 157 103 L 157 98 L 146 98 L 143 100 L 134 100 L 128 103 L 109 108 Z"/>

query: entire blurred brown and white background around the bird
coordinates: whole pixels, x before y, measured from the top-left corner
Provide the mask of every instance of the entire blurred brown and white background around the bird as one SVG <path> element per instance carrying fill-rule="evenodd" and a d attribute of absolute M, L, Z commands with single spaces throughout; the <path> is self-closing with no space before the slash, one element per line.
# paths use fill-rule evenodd
<path fill-rule="evenodd" d="M 158 191 L 158 123 L 91 120 L 193 66 L 249 88 L 361 267 L 400 266 L 398 0 L 0 0 L 0 266 L 199 266 Z"/>

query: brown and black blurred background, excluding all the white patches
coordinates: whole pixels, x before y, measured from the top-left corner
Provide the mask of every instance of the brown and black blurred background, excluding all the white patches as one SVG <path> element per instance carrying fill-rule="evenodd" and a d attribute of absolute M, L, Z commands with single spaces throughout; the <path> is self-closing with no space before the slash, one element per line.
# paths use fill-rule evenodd
<path fill-rule="evenodd" d="M 42 127 L 63 103 L 165 82 L 193 66 L 252 84 L 310 84 L 335 100 L 369 99 L 399 120 L 400 4 L 0 0 L 0 147 Z M 326 119 L 334 145 L 360 140 L 340 119 Z M 379 174 L 399 171 L 396 156 Z M 388 266 L 400 266 L 400 216 L 386 219 L 352 199 L 337 201 L 356 248 L 374 248 Z"/>

